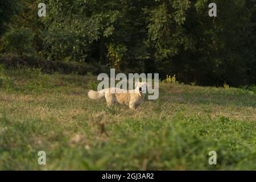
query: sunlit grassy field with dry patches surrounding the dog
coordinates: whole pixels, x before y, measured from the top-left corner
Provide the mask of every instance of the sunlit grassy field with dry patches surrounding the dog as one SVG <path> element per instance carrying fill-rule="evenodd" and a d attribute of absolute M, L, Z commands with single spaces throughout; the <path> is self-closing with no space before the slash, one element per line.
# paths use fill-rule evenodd
<path fill-rule="evenodd" d="M 1 65 L 0 169 L 256 169 L 255 93 L 160 83 L 134 111 L 89 100 L 96 81 Z"/>

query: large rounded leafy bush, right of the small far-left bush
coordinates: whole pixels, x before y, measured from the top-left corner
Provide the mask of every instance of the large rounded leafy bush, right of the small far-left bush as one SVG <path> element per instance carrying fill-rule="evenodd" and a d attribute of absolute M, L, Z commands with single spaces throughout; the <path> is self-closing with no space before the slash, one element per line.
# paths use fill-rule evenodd
<path fill-rule="evenodd" d="M 57 3 L 53 3 L 53 7 L 56 5 Z M 72 7 L 80 8 L 77 5 Z M 57 14 L 55 10 L 52 13 Z M 68 15 L 67 18 L 65 15 L 58 14 L 59 18 L 53 22 L 51 19 L 45 22 L 48 23 L 46 36 L 43 38 L 45 56 L 52 60 L 85 62 L 91 51 L 90 45 L 99 38 L 100 20 L 97 17 L 87 18 L 75 14 L 72 17 Z"/>

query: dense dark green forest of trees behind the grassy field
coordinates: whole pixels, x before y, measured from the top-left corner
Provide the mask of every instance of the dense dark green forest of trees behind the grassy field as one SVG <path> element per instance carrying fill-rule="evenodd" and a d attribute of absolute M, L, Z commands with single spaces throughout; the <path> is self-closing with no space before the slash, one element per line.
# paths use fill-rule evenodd
<path fill-rule="evenodd" d="M 0 52 L 176 75 L 187 84 L 256 83 L 256 1 L 0 1 Z"/>

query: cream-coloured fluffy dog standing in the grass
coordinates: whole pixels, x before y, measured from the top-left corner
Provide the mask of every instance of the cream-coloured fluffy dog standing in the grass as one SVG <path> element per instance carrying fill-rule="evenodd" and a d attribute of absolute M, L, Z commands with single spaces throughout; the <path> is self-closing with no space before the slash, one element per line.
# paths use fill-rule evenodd
<path fill-rule="evenodd" d="M 100 90 L 100 92 L 90 90 L 88 97 L 92 100 L 99 100 L 100 98 L 106 98 L 108 106 L 112 106 L 115 102 L 122 105 L 127 105 L 130 109 L 136 109 L 142 104 L 146 95 L 147 82 L 136 82 L 134 90 L 124 90 L 119 88 L 106 88 Z"/>

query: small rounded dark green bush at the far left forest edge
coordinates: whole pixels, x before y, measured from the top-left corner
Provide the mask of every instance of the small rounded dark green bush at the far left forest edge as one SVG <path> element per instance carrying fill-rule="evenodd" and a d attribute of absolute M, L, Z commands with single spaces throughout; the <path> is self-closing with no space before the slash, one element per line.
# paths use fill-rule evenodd
<path fill-rule="evenodd" d="M 12 28 L 2 38 L 3 48 L 22 56 L 24 53 L 32 53 L 32 36 L 28 28 Z"/>

